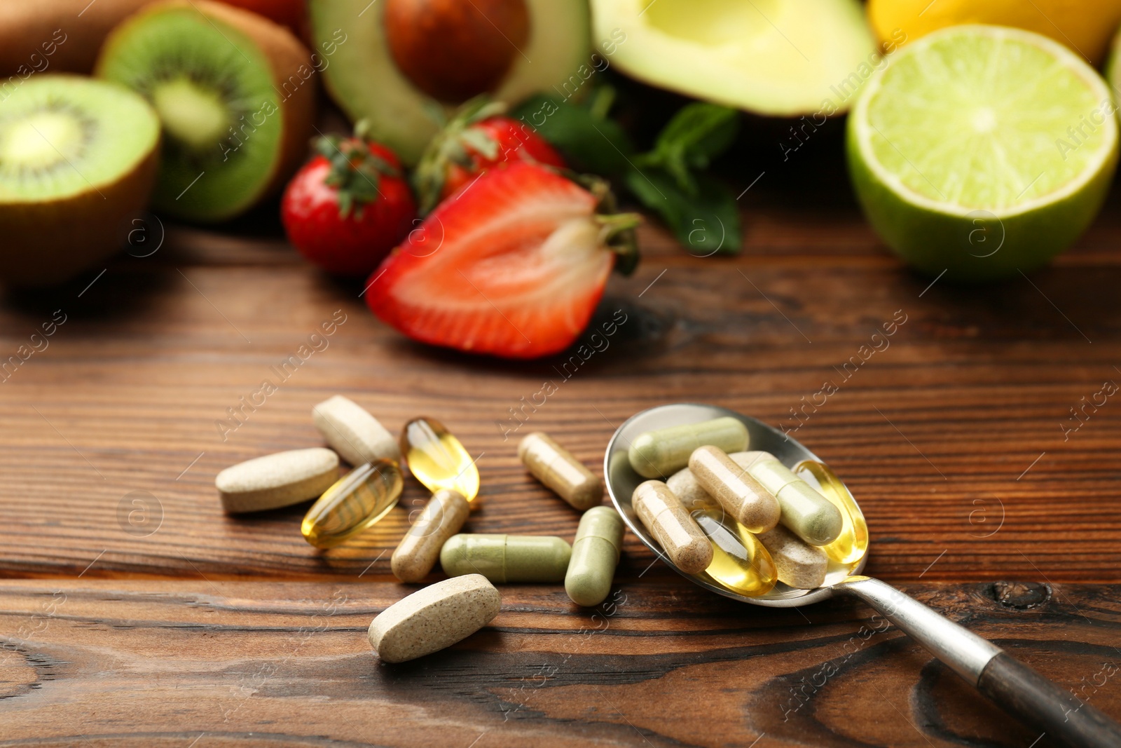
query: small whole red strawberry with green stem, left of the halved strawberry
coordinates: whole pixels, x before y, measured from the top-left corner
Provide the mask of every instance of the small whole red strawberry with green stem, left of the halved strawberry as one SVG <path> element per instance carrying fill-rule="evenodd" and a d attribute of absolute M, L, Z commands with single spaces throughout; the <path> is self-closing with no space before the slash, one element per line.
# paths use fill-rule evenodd
<path fill-rule="evenodd" d="M 288 241 L 327 273 L 369 274 L 416 218 L 397 156 L 362 135 L 319 138 L 280 203 Z"/>

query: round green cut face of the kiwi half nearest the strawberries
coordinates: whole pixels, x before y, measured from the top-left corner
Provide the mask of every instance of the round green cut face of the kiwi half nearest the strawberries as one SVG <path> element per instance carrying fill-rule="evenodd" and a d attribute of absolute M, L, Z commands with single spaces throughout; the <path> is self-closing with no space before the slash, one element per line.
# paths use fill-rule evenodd
<path fill-rule="evenodd" d="M 269 58 L 192 6 L 141 11 L 110 37 L 98 75 L 145 96 L 164 128 L 155 206 L 221 221 L 268 191 L 281 158 L 282 116 Z"/>

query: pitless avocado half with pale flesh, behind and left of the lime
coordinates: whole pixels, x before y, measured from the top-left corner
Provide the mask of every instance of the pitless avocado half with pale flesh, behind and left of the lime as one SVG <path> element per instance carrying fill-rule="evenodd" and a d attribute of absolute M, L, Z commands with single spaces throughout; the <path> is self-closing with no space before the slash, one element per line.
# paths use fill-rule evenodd
<path fill-rule="evenodd" d="M 856 0 L 592 0 L 592 17 L 594 38 L 626 35 L 628 75 L 758 114 L 844 111 L 881 64 Z"/>

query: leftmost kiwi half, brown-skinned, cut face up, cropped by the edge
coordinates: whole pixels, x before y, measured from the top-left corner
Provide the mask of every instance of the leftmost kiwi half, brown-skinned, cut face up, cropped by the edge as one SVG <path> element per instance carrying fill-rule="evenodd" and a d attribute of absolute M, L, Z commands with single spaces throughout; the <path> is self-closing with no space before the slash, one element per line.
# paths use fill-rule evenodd
<path fill-rule="evenodd" d="M 0 103 L 0 278 L 61 283 L 111 255 L 156 179 L 159 119 L 123 86 L 36 75 Z"/>

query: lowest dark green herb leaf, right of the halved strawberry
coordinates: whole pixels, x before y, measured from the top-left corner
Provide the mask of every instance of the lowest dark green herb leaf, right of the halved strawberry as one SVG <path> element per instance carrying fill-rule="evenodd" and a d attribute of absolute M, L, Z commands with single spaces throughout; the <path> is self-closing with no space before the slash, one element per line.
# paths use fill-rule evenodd
<path fill-rule="evenodd" d="M 707 174 L 692 178 L 695 194 L 682 190 L 676 176 L 660 167 L 631 169 L 624 183 L 643 205 L 661 216 L 691 255 L 738 255 L 742 228 L 735 197 Z"/>

